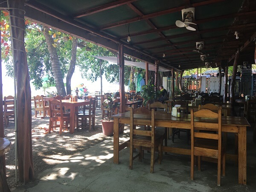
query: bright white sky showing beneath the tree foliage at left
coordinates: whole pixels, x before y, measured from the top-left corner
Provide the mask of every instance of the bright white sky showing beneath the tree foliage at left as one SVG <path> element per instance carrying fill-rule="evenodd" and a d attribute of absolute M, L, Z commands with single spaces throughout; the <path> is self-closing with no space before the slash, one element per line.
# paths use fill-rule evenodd
<path fill-rule="evenodd" d="M 5 64 L 2 63 L 2 79 L 3 79 L 3 96 L 9 96 L 14 95 L 14 81 L 11 77 L 6 76 L 6 68 Z M 64 79 L 64 82 L 66 82 L 66 79 Z M 81 78 L 81 73 L 79 71 L 79 68 L 77 67 L 75 69 L 75 72 L 71 79 L 71 89 L 76 90 L 77 84 L 84 84 L 84 87 L 86 87 L 90 93 L 94 93 L 95 91 L 100 91 L 100 79 L 97 79 L 95 82 L 90 82 L 85 79 Z M 35 87 L 30 83 L 31 87 L 31 96 L 36 95 L 44 95 L 44 90 L 35 90 Z M 119 84 L 118 83 L 109 83 L 105 76 L 102 76 L 102 91 L 103 93 L 107 93 L 109 91 L 116 92 L 119 90 Z M 51 87 L 48 92 L 56 91 L 55 87 Z M 47 94 L 47 93 L 46 93 Z"/>

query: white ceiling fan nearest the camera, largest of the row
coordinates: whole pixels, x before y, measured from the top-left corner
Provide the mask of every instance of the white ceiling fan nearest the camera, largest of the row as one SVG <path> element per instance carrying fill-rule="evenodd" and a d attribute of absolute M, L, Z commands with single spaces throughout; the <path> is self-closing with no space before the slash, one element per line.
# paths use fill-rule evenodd
<path fill-rule="evenodd" d="M 195 28 L 189 26 L 189 24 L 194 24 L 192 21 L 195 19 L 195 7 L 191 7 L 188 9 L 182 9 L 182 21 L 176 20 L 175 24 L 177 27 L 186 27 L 186 29 L 189 29 L 191 31 L 195 31 Z"/>

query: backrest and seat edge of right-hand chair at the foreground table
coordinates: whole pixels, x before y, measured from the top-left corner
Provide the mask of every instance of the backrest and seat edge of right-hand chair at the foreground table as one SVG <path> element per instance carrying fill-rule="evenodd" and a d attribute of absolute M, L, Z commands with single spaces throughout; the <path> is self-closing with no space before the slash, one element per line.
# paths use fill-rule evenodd
<path fill-rule="evenodd" d="M 209 109 L 201 109 L 194 112 L 191 109 L 191 150 L 194 152 L 195 138 L 204 140 L 218 140 L 218 151 L 204 151 L 202 156 L 221 158 L 221 109 L 215 113 Z M 195 119 L 198 118 L 198 119 Z M 199 121 L 198 121 L 199 120 Z M 217 131 L 215 132 L 200 132 L 200 131 Z M 198 149 L 196 149 L 198 151 Z"/>

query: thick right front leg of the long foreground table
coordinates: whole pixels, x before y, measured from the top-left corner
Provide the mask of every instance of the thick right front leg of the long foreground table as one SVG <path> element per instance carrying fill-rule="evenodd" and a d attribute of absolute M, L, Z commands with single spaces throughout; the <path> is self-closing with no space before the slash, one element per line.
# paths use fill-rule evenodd
<path fill-rule="evenodd" d="M 246 185 L 246 127 L 238 129 L 238 183 Z"/>

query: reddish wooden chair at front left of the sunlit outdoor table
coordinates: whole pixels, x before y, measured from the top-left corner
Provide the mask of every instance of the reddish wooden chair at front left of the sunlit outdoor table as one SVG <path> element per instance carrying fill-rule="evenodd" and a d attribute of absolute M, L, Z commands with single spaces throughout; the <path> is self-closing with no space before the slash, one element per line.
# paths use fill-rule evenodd
<path fill-rule="evenodd" d="M 59 134 L 62 134 L 62 129 L 68 129 L 68 123 L 70 122 L 70 113 L 64 113 L 62 110 L 62 102 L 61 100 L 52 99 L 49 101 L 49 111 L 50 111 L 50 118 L 49 118 L 49 130 L 48 132 L 51 133 L 51 130 L 59 127 Z M 59 124 L 57 123 L 59 122 Z"/>

